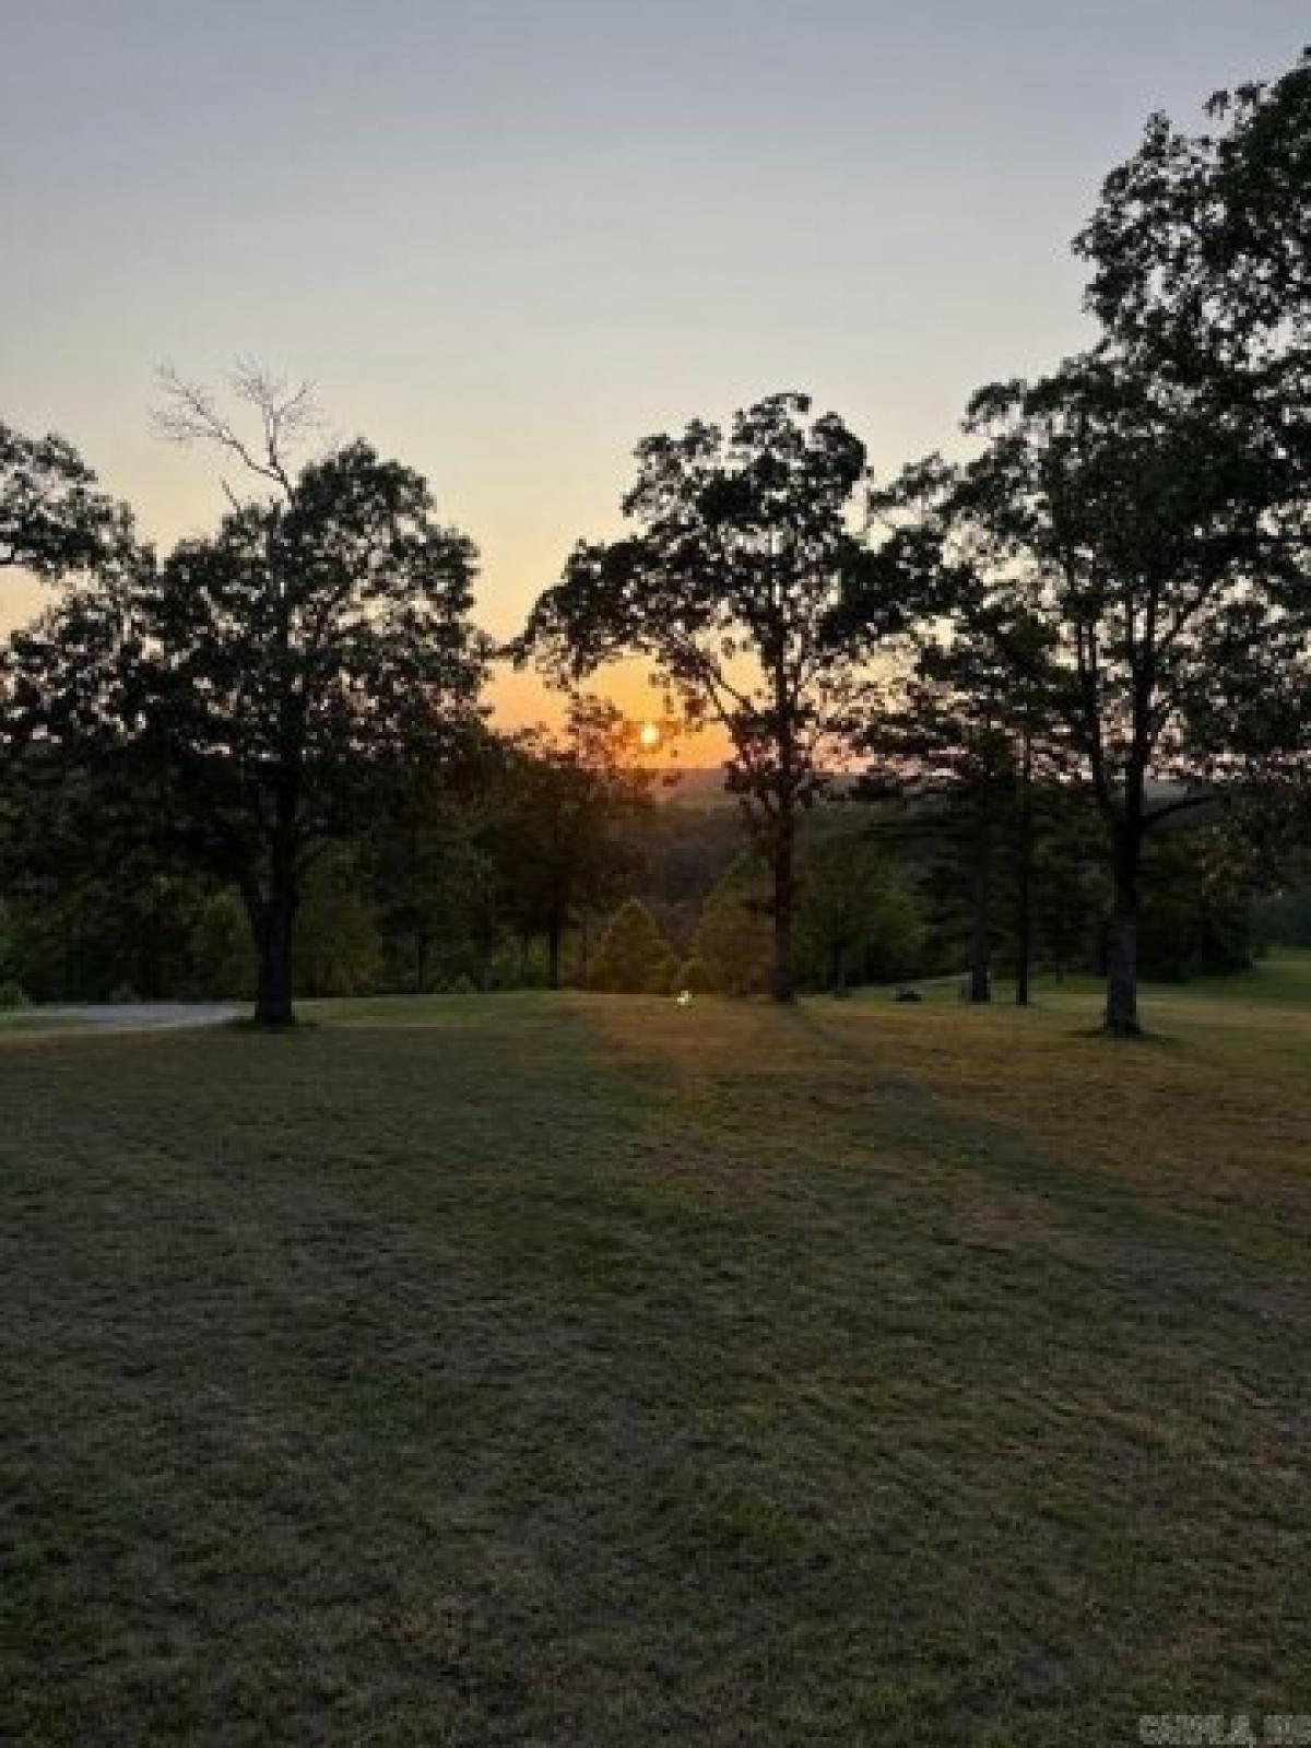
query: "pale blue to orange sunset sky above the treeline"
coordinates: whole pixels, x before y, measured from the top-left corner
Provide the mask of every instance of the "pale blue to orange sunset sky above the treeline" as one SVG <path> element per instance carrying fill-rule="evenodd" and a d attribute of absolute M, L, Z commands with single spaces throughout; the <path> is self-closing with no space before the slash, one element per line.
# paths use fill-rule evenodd
<path fill-rule="evenodd" d="M 309 378 L 510 636 L 650 432 L 806 390 L 883 474 L 958 447 L 1089 337 L 1068 241 L 1148 112 L 1308 37 L 1304 0 L 0 0 L 0 420 L 168 544 L 224 500 L 156 369 Z M 0 628 L 35 601 L 0 575 Z"/>

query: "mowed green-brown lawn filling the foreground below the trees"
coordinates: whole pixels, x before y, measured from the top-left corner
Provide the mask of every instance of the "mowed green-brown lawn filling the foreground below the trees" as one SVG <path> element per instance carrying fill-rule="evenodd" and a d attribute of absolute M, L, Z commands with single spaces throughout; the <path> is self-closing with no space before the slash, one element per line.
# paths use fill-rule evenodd
<path fill-rule="evenodd" d="M 1091 991 L 5 1037 L 0 1738 L 1311 1711 L 1311 991 L 1257 982 L 1131 1045 Z"/>

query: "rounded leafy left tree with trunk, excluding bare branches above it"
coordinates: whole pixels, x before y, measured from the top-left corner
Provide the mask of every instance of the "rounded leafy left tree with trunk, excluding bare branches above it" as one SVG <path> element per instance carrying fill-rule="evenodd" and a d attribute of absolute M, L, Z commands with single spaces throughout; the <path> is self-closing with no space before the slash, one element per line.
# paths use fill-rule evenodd
<path fill-rule="evenodd" d="M 157 573 L 150 743 L 191 841 L 243 895 L 264 1024 L 292 1017 L 306 860 L 409 760 L 440 759 L 474 706 L 472 575 L 472 544 L 435 521 L 423 479 L 362 442 Z"/>

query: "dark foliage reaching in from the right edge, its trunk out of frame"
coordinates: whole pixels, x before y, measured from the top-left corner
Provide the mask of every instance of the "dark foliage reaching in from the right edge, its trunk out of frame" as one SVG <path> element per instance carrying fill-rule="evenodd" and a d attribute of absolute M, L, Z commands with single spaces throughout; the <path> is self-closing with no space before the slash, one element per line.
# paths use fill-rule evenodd
<path fill-rule="evenodd" d="M 1311 51 L 1206 114 L 1192 135 L 1150 117 L 1075 248 L 1110 344 L 1246 434 L 1252 586 L 1281 636 L 1217 671 L 1192 732 L 1271 872 L 1306 830 L 1311 762 Z"/>

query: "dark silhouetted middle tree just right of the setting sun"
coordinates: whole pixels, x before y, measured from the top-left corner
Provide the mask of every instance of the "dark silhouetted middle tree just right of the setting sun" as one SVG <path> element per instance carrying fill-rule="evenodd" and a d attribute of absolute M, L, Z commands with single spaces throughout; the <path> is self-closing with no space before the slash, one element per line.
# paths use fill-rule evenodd
<path fill-rule="evenodd" d="M 533 608 L 521 657 L 580 678 L 645 656 L 697 720 L 729 738 L 729 787 L 771 874 L 773 993 L 792 996 L 799 818 L 839 755 L 869 649 L 902 615 L 881 603 L 851 528 L 864 446 L 806 395 L 640 444 L 624 498 L 636 531 L 580 544 Z M 850 635 L 843 603 L 869 610 Z"/>

